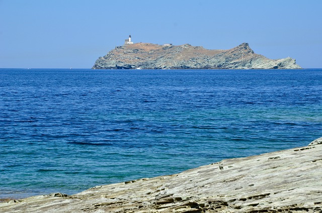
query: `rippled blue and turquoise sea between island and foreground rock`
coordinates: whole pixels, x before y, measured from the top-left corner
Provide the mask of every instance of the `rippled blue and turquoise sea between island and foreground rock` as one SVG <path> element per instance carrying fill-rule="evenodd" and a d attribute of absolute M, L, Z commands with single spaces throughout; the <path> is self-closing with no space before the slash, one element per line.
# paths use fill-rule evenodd
<path fill-rule="evenodd" d="M 174 174 L 322 137 L 322 69 L 0 69 L 0 198 Z"/>

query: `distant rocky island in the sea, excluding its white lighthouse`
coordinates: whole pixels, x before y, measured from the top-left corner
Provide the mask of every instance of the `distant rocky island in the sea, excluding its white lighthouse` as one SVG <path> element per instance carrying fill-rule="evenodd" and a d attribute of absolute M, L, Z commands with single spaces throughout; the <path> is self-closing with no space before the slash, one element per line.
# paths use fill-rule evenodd
<path fill-rule="evenodd" d="M 300 69 L 295 59 L 268 59 L 248 43 L 230 50 L 207 50 L 189 44 L 148 43 L 116 47 L 96 60 L 93 69 Z"/>

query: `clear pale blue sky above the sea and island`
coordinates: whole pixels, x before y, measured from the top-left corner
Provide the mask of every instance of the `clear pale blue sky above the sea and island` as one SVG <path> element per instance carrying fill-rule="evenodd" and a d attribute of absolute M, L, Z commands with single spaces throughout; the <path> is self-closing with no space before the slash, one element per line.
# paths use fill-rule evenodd
<path fill-rule="evenodd" d="M 322 1 L 0 0 L 0 68 L 91 68 L 132 41 L 231 49 L 322 68 Z"/>

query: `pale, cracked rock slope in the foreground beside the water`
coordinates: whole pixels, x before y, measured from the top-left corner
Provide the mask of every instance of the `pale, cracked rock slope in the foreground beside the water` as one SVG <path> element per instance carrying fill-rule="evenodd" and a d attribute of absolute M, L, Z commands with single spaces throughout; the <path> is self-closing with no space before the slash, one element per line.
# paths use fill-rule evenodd
<path fill-rule="evenodd" d="M 0 202 L 0 212 L 322 212 L 322 138 L 179 174 Z"/>

